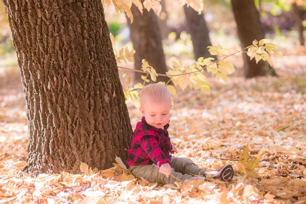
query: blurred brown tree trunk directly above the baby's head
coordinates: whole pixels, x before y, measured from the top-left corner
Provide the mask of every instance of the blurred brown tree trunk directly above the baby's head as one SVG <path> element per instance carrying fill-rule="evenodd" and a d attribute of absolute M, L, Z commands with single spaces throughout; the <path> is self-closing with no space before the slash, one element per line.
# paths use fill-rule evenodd
<path fill-rule="evenodd" d="M 142 59 L 146 59 L 149 65 L 155 68 L 157 73 L 164 74 L 167 71 L 167 66 L 158 24 L 158 16 L 154 11 L 150 10 L 148 12 L 146 9 L 143 9 L 143 14 L 141 15 L 134 4 L 131 10 L 134 21 L 131 24 L 131 20 L 127 18 L 127 24 L 129 24 L 131 39 L 134 49 L 136 50 L 134 55 L 135 69 L 140 70 Z M 145 74 L 135 72 L 135 83 L 143 82 L 141 75 Z M 150 77 L 148 77 L 148 79 L 150 79 Z M 168 80 L 169 78 L 167 77 L 157 78 L 158 82 L 167 82 Z"/>

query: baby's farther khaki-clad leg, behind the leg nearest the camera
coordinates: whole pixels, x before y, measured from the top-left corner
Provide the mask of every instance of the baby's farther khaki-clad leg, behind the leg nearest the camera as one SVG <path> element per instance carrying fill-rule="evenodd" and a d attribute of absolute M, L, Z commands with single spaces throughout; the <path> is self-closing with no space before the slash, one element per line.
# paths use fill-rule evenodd
<path fill-rule="evenodd" d="M 171 159 L 171 167 L 174 171 L 183 174 L 205 175 L 206 170 L 197 167 L 190 159 L 175 157 Z"/>

